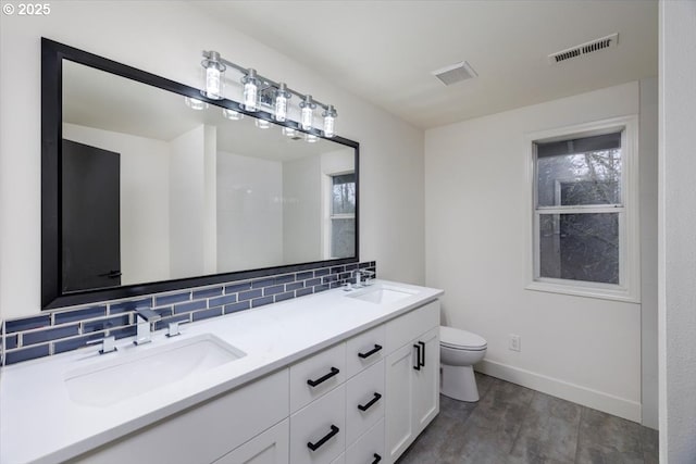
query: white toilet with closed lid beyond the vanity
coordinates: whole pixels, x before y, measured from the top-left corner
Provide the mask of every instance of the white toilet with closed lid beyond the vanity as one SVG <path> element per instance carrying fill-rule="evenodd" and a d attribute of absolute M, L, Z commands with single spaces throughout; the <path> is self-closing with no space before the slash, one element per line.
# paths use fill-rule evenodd
<path fill-rule="evenodd" d="M 459 401 L 478 401 L 473 365 L 483 360 L 486 340 L 467 330 L 440 326 L 439 361 L 443 377 L 439 392 Z"/>

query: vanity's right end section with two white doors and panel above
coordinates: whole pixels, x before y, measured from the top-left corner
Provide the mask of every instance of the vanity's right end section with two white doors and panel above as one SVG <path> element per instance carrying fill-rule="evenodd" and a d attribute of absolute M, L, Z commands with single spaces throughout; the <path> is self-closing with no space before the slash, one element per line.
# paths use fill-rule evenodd
<path fill-rule="evenodd" d="M 395 462 L 439 412 L 439 303 L 387 323 L 386 452 Z"/>

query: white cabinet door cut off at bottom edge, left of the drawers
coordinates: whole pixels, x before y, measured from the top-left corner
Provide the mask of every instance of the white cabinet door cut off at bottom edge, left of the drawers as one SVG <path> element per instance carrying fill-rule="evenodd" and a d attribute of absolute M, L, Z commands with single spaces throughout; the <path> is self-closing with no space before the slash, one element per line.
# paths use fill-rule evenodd
<path fill-rule="evenodd" d="M 289 419 L 271 427 L 213 464 L 288 464 Z"/>

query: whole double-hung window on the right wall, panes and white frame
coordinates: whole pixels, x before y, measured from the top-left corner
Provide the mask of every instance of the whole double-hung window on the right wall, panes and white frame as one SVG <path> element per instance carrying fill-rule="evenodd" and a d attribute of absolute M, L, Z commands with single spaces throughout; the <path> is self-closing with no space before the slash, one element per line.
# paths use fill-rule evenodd
<path fill-rule="evenodd" d="M 530 289 L 636 301 L 635 122 L 532 139 Z"/>

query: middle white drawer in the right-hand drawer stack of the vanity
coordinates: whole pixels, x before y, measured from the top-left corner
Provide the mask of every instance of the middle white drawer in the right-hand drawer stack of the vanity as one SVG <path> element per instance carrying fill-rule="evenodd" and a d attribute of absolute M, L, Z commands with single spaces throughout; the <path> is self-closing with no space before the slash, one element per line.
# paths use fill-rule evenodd
<path fill-rule="evenodd" d="M 346 443 L 350 446 L 384 417 L 384 361 L 346 383 Z"/>

